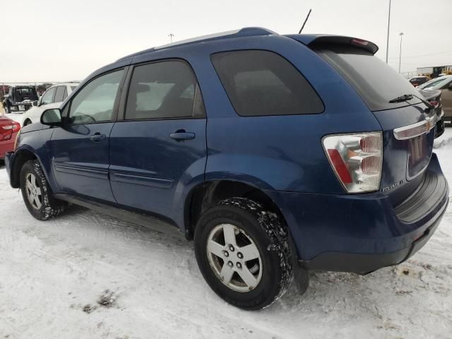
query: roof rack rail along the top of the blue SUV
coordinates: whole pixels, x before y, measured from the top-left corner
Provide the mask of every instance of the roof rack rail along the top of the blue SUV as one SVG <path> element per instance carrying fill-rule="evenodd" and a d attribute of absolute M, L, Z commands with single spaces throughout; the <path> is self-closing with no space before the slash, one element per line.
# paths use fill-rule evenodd
<path fill-rule="evenodd" d="M 163 44 L 162 46 L 152 47 L 149 49 L 145 49 L 141 52 L 136 52 L 133 54 L 126 55 L 126 57 L 122 57 L 117 61 L 124 60 L 130 57 L 135 57 L 137 55 L 146 54 L 150 52 L 155 52 L 160 49 L 167 49 L 172 47 L 185 46 L 186 44 L 194 44 L 196 42 L 206 42 L 213 40 L 222 40 L 222 39 L 230 39 L 232 37 L 254 37 L 259 35 L 277 35 L 278 33 L 273 32 L 273 30 L 268 30 L 267 28 L 261 27 L 245 27 L 239 30 L 230 30 L 227 32 L 219 32 L 210 35 L 203 35 L 201 37 L 192 37 L 191 39 L 181 40 L 177 42 L 172 42 L 171 44 Z"/>

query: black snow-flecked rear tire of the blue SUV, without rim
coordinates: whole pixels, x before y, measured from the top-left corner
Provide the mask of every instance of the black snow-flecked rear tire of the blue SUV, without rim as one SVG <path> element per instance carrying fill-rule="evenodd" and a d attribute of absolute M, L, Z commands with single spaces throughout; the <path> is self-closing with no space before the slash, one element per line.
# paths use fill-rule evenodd
<path fill-rule="evenodd" d="M 207 244 L 211 232 L 215 232 L 214 229 L 218 229 L 219 225 L 239 227 L 256 245 L 261 256 L 262 273 L 254 289 L 246 292 L 233 290 L 222 283 L 211 266 Z M 237 230 L 235 234 L 239 234 Z M 227 242 L 224 242 L 227 249 Z M 284 295 L 294 278 L 289 234 L 285 223 L 275 213 L 264 210 L 261 204 L 246 198 L 220 201 L 201 215 L 196 225 L 194 245 L 196 261 L 210 288 L 226 302 L 241 309 L 254 310 L 269 306 Z M 237 256 L 239 249 L 237 245 Z M 232 257 L 234 254 L 231 252 L 230 255 Z M 234 258 L 232 260 L 235 260 Z M 226 261 L 221 261 L 226 265 Z M 233 273 L 233 277 L 239 277 L 238 266 L 234 266 L 234 269 L 236 273 Z"/>

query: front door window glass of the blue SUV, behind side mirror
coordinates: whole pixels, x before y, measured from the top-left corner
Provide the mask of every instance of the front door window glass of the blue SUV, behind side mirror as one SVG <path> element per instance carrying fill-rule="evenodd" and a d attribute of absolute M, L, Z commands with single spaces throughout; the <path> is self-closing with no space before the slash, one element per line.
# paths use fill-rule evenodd
<path fill-rule="evenodd" d="M 124 70 L 95 78 L 73 98 L 69 110 L 69 124 L 93 124 L 109 121 Z"/>

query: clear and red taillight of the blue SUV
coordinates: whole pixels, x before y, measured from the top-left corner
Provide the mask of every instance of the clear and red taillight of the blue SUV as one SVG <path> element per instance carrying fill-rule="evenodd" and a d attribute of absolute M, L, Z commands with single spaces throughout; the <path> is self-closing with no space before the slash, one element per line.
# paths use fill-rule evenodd
<path fill-rule="evenodd" d="M 348 193 L 378 191 L 383 163 L 381 132 L 325 136 L 322 143 L 336 177 Z"/>

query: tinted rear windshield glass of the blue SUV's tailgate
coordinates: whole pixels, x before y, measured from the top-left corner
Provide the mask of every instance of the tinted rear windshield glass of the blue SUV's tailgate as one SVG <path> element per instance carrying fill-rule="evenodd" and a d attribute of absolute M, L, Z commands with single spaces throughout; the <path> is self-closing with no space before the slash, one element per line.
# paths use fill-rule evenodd
<path fill-rule="evenodd" d="M 313 49 L 355 88 L 371 111 L 420 102 L 413 97 L 408 103 L 390 103 L 389 100 L 401 95 L 419 95 L 419 92 L 400 73 L 364 49 L 343 44 L 328 44 Z"/>

